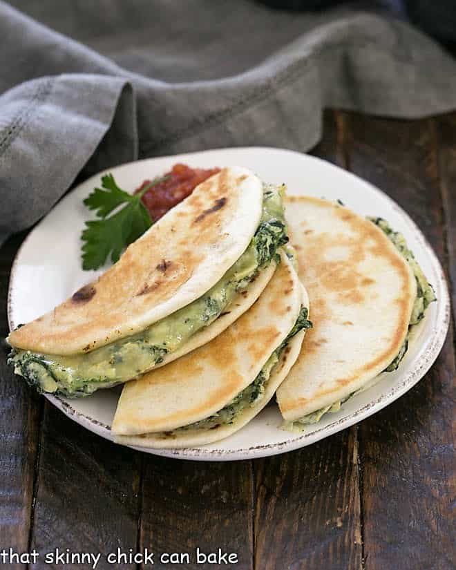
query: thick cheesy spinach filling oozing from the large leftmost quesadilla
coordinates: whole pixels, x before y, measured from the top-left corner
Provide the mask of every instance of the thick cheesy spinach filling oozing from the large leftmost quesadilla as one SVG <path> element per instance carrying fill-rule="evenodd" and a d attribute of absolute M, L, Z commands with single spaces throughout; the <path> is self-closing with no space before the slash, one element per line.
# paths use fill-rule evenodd
<path fill-rule="evenodd" d="M 84 397 L 144 374 L 178 350 L 193 334 L 215 321 L 288 242 L 283 211 L 285 187 L 265 184 L 263 213 L 242 256 L 207 293 L 182 309 L 87 354 L 59 356 L 13 349 L 8 363 L 39 392 Z"/>

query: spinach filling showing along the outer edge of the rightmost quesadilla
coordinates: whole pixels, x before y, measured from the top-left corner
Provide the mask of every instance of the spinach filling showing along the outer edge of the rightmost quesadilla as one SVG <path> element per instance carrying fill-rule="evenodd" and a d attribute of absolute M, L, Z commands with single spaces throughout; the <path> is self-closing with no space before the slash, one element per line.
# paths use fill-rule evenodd
<path fill-rule="evenodd" d="M 399 231 L 394 231 L 386 220 L 383 218 L 368 218 L 372 223 L 377 225 L 384 234 L 390 239 L 390 241 L 395 245 L 397 251 L 403 256 L 406 260 L 408 265 L 410 265 L 413 274 L 415 275 L 415 280 L 417 281 L 417 296 L 415 298 L 415 302 L 413 303 L 412 314 L 410 315 L 410 321 L 408 323 L 408 333 L 406 336 L 405 341 L 403 341 L 403 345 L 399 349 L 395 359 L 383 370 L 383 372 L 394 372 L 399 368 L 399 364 L 401 360 L 406 355 L 408 350 L 408 341 L 410 337 L 410 330 L 412 327 L 417 325 L 423 318 L 424 313 L 430 303 L 435 301 L 435 292 L 433 286 L 428 283 L 426 276 L 423 273 L 421 267 L 415 256 L 413 255 L 412 251 L 408 249 L 407 243 L 405 238 Z M 357 390 L 359 391 L 359 390 Z M 357 392 L 352 392 L 352 394 L 348 395 L 343 400 L 336 401 L 329 406 L 325 406 L 324 408 L 320 408 L 315 412 L 305 415 L 295 421 L 285 422 L 282 426 L 283 429 L 288 431 L 301 431 L 302 426 L 306 424 L 316 424 L 317 421 L 320 421 L 321 417 L 325 415 L 327 412 L 338 412 L 341 409 L 341 405 L 343 402 L 347 401 L 350 397 L 352 397 Z"/>

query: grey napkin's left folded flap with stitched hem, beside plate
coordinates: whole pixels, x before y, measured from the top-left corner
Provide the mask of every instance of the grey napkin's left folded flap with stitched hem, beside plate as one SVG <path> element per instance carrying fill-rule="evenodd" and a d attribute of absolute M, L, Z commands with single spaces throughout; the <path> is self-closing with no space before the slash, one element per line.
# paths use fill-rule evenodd
<path fill-rule="evenodd" d="M 135 158 L 135 99 L 124 79 L 59 75 L 7 91 L 0 96 L 0 244 L 44 216 L 84 165 L 93 173 Z"/>

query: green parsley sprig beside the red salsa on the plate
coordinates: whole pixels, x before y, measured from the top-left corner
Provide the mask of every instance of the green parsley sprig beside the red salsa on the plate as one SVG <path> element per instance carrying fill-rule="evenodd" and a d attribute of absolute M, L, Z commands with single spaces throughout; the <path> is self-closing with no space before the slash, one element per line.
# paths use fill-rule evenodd
<path fill-rule="evenodd" d="M 156 178 L 137 194 L 129 194 L 117 186 L 111 173 L 102 176 L 102 188 L 95 188 L 84 200 L 86 207 L 94 210 L 101 219 L 86 222 L 82 231 L 83 269 L 102 267 L 110 254 L 111 261 L 115 263 L 125 247 L 151 227 L 153 220 L 141 198 L 166 178 Z M 117 211 L 113 213 L 114 210 Z"/>

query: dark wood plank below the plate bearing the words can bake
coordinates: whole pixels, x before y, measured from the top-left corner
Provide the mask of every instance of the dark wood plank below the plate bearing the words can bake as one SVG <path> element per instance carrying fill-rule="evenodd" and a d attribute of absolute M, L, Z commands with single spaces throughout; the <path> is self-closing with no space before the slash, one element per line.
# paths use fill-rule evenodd
<path fill-rule="evenodd" d="M 157 569 L 250 570 L 253 558 L 251 462 L 185 462 L 144 457 L 140 551 L 155 551 Z M 203 553 L 236 553 L 238 562 L 196 563 Z M 162 553 L 189 553 L 183 564 Z"/>

